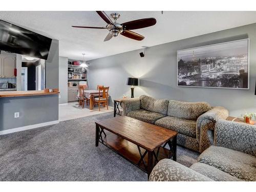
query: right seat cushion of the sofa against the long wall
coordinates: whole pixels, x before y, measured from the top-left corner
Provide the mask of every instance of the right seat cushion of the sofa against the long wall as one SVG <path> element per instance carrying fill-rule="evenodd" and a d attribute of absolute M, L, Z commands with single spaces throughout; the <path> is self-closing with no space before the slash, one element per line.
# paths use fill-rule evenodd
<path fill-rule="evenodd" d="M 196 121 L 167 116 L 157 120 L 155 124 L 196 138 Z"/>

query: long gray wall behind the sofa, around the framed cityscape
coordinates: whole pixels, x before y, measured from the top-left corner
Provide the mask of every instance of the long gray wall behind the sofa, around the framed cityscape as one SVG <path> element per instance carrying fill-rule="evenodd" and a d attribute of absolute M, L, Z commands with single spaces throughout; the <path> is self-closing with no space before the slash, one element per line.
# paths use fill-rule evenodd
<path fill-rule="evenodd" d="M 256 112 L 254 95 L 256 76 L 256 24 L 182 39 L 147 48 L 145 57 L 135 50 L 89 61 L 89 86 L 110 86 L 112 99 L 131 96 L 127 77 L 140 78 L 135 97 L 146 94 L 155 98 L 181 101 L 206 101 L 212 106 L 225 106 L 232 116 L 244 110 Z M 121 37 L 120 37 L 121 38 Z M 250 38 L 250 90 L 177 87 L 177 50 Z"/>

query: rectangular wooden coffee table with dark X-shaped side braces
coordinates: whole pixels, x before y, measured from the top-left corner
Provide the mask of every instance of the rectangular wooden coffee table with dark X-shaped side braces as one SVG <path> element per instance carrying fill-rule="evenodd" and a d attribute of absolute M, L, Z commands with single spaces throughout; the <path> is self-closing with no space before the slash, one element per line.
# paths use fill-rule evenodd
<path fill-rule="evenodd" d="M 96 124 L 96 143 L 108 146 L 150 176 L 161 159 L 176 161 L 177 132 L 126 116 L 99 120 Z M 103 135 L 102 135 L 103 134 Z M 165 148 L 169 145 L 170 150 Z"/>

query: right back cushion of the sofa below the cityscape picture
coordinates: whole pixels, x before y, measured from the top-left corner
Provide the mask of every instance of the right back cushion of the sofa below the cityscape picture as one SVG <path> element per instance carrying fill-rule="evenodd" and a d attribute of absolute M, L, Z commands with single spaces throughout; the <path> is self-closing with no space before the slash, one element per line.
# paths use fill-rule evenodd
<path fill-rule="evenodd" d="M 207 102 L 183 102 L 169 100 L 167 115 L 183 119 L 197 120 L 200 115 L 210 109 L 212 109 L 212 107 Z"/>

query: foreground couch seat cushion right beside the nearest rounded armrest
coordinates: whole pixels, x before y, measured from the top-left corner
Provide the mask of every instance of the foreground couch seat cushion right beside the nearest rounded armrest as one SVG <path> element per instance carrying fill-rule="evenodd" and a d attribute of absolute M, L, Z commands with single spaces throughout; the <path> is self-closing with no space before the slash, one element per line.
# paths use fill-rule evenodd
<path fill-rule="evenodd" d="M 210 166 L 204 163 L 197 162 L 191 165 L 189 168 L 215 181 L 242 181 L 236 177 L 233 177 L 223 172 L 222 170 L 214 166 Z"/>

